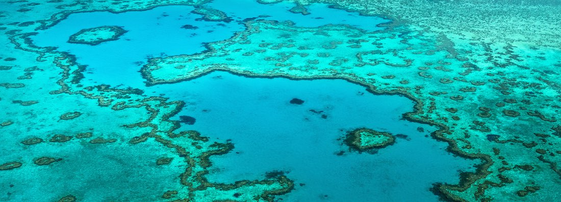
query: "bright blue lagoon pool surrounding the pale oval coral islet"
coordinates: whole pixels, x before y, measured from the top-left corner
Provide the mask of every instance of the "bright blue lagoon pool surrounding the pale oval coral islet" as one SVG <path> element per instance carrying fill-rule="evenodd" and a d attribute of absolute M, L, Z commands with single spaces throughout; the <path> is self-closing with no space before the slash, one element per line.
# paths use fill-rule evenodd
<path fill-rule="evenodd" d="M 124 84 L 140 88 L 144 79 L 138 71 L 147 58 L 201 52 L 206 49 L 203 43 L 227 39 L 243 29 L 235 23 L 196 21 L 201 16 L 191 13 L 192 10 L 190 6 L 164 6 L 119 14 L 75 13 L 32 39 L 37 45 L 68 51 L 77 56 L 77 62 L 87 64 L 84 83 L 88 86 Z M 122 26 L 128 32 L 117 41 L 96 46 L 66 43 L 70 35 L 81 29 L 103 25 Z M 199 29 L 182 29 L 183 25 Z"/>

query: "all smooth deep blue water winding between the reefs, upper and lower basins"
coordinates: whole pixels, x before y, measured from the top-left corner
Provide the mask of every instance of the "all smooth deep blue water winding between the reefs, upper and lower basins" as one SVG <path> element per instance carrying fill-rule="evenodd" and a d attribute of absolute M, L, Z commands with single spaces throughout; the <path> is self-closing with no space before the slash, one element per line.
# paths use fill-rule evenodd
<path fill-rule="evenodd" d="M 33 41 L 39 46 L 57 46 L 76 55 L 80 64 L 89 65 L 85 86 L 122 85 L 185 101 L 187 106 L 174 119 L 187 115 L 196 121 L 181 130 L 199 130 L 220 142 L 231 140 L 236 147 L 211 158 L 210 181 L 261 179 L 266 172 L 278 170 L 296 183 L 296 190 L 279 196 L 285 201 L 437 201 L 429 191 L 431 184 L 457 183 L 459 171 L 473 170 L 476 162 L 452 156 L 444 151 L 447 144 L 427 137 L 435 128 L 401 119 L 412 110 L 412 101 L 373 95 L 343 80 L 293 81 L 214 72 L 192 81 L 145 87 L 137 71 L 146 58 L 200 53 L 205 50 L 203 43 L 242 31 L 241 20 L 248 17 L 268 15 L 263 19 L 292 20 L 297 26 L 309 27 L 351 24 L 369 31 L 380 30 L 375 25 L 387 22 L 322 4 L 310 6 L 312 14 L 306 16 L 288 12 L 291 3 L 215 0 L 208 6 L 223 10 L 234 21 L 197 21 L 201 16 L 190 13 L 190 6 L 119 14 L 76 13 L 40 31 Z M 68 36 L 81 29 L 104 25 L 123 26 L 128 32 L 117 41 L 96 46 L 66 43 Z M 183 25 L 199 29 L 181 29 Z M 290 104 L 292 98 L 305 102 Z M 396 144 L 373 153 L 348 152 L 339 138 L 358 127 L 407 138 L 398 138 Z M 417 130 L 419 127 L 424 131 Z M 345 153 L 337 155 L 341 151 Z"/>

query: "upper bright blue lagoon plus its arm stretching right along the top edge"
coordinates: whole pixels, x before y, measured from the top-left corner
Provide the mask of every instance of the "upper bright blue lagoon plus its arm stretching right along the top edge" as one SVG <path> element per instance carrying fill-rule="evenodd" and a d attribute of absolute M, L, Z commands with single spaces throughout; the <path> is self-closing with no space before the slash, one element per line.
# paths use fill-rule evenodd
<path fill-rule="evenodd" d="M 196 20 L 201 15 L 191 13 L 191 6 L 164 6 L 148 11 L 125 13 L 87 12 L 74 13 L 57 25 L 31 37 L 39 46 L 55 46 L 59 51 L 68 51 L 77 56 L 77 62 L 88 65 L 85 73 L 86 86 L 95 84 L 124 85 L 142 88 L 144 79 L 137 71 L 147 58 L 165 55 L 195 54 L 206 50 L 204 44 L 226 40 L 245 26 L 241 20 L 268 15 L 264 20 L 291 20 L 297 26 L 323 26 L 350 24 L 365 30 L 381 30 L 376 25 L 388 22 L 380 17 L 360 16 L 342 10 L 328 8 L 324 4 L 310 7 L 310 15 L 289 12 L 292 3 L 260 4 L 255 1 L 213 1 L 209 7 L 227 12 L 237 21 L 212 22 Z M 241 9 L 241 8 L 245 9 Z M 128 32 L 119 40 L 99 45 L 66 43 L 70 35 L 91 27 L 104 25 L 122 26 Z M 182 29 L 192 25 L 198 29 Z"/>

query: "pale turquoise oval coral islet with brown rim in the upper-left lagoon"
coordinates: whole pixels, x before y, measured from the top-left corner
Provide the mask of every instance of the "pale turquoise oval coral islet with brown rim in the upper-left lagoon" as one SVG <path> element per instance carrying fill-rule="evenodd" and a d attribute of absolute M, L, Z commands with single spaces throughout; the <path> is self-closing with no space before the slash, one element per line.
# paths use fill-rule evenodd
<path fill-rule="evenodd" d="M 80 30 L 68 39 L 68 43 L 98 45 L 105 41 L 118 40 L 127 31 L 118 26 L 100 26 Z"/>

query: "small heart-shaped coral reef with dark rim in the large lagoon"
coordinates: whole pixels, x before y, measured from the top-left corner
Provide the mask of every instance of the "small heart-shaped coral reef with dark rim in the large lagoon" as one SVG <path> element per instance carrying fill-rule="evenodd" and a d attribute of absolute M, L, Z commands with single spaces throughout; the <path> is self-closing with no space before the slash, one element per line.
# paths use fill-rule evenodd
<path fill-rule="evenodd" d="M 396 142 L 392 134 L 367 128 L 359 128 L 347 134 L 344 142 L 358 152 L 368 149 L 384 148 Z"/>

